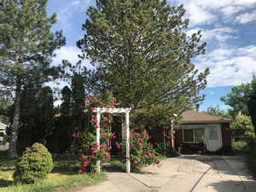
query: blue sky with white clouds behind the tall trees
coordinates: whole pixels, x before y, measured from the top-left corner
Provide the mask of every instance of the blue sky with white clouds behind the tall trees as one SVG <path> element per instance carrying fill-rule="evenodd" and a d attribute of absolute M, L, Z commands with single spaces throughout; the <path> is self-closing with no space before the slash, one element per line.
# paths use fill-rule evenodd
<path fill-rule="evenodd" d="M 206 100 L 200 110 L 218 105 L 220 96 L 230 92 L 232 86 L 251 81 L 256 72 L 256 0 L 169 0 L 172 5 L 183 4 L 189 18 L 188 34 L 201 30 L 202 41 L 207 42 L 207 53 L 193 61 L 199 70 L 210 68 L 207 79 Z M 49 0 L 49 14 L 56 13 L 58 22 L 54 30 L 62 29 L 67 44 L 56 51 L 55 63 L 67 59 L 78 61 L 76 41 L 82 38 L 82 25 L 86 9 L 95 0 Z M 89 65 L 89 61 L 84 61 Z"/>

